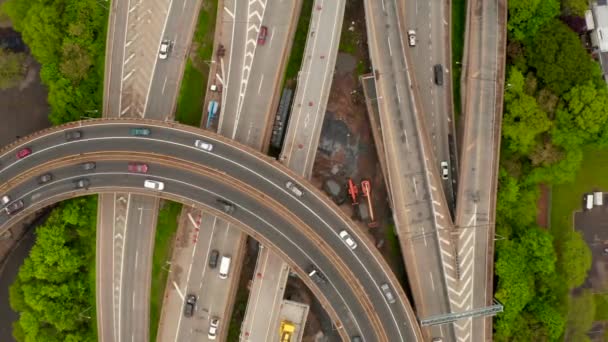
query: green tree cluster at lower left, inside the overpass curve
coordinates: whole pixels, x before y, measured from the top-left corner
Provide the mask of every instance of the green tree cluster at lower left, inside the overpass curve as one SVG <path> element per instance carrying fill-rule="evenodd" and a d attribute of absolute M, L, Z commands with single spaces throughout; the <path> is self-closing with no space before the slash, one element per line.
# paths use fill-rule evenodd
<path fill-rule="evenodd" d="M 36 229 L 36 243 L 9 290 L 17 341 L 96 341 L 97 197 L 72 199 Z M 91 317 L 92 316 L 92 317 Z"/>

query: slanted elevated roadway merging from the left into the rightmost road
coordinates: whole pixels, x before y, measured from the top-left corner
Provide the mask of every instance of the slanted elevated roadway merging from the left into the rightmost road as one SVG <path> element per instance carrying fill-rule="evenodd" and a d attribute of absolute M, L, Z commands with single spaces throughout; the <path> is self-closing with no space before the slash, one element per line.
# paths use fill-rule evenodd
<path fill-rule="evenodd" d="M 419 108 L 405 29 L 395 0 L 364 1 L 388 184 L 397 235 L 419 318 L 451 311 L 456 279 L 452 221 Z M 451 326 L 427 337 L 454 340 Z"/>

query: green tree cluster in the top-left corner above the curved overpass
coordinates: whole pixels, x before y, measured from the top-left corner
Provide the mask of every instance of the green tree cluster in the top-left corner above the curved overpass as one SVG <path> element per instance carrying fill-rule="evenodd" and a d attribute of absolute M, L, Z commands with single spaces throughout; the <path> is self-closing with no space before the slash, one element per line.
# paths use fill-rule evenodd
<path fill-rule="evenodd" d="M 7 0 L 2 11 L 41 64 L 53 124 L 99 110 L 108 9 L 97 0 Z"/>

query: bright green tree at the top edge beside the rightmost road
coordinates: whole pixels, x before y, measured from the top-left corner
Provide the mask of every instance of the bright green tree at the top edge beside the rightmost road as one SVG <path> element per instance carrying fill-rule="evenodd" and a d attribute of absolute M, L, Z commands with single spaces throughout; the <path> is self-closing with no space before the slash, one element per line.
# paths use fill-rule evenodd
<path fill-rule="evenodd" d="M 549 20 L 559 14 L 558 0 L 510 0 L 507 30 L 515 40 L 532 37 Z"/>

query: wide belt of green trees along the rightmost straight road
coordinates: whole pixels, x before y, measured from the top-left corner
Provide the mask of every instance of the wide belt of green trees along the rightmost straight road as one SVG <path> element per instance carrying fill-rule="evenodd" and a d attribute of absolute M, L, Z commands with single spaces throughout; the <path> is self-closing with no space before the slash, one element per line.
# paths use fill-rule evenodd
<path fill-rule="evenodd" d="M 591 266 L 572 212 L 584 191 L 606 183 L 608 91 L 576 33 L 555 19 L 557 0 L 508 5 L 496 208 L 496 233 L 505 239 L 496 242 L 495 264 L 495 296 L 505 311 L 495 320 L 494 339 L 584 341 L 597 299 L 569 297 Z M 536 225 L 540 183 L 553 188 L 548 231 Z"/>

